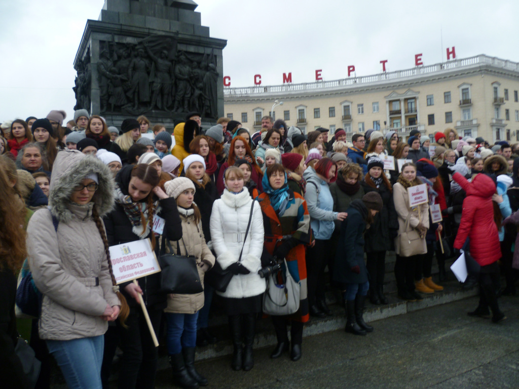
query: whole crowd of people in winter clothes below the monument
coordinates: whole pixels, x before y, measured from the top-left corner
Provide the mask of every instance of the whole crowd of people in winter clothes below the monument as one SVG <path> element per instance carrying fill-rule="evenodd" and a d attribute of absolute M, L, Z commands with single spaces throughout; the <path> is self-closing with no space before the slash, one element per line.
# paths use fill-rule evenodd
<path fill-rule="evenodd" d="M 30 331 L 42 362 L 38 388 L 49 387 L 49 354 L 69 387 L 107 388 L 117 348 L 118 387 L 153 388 L 158 349 L 140 297 L 155 333 L 165 328 L 176 385 L 208 384 L 194 362 L 197 347 L 218 338 L 209 329 L 212 306 L 228 317 L 231 368 L 248 371 L 271 272 L 279 284 L 299 285 L 297 311 L 270 315 L 278 341 L 272 358 L 302 357 L 304 323 L 332 315 L 326 291 L 345 308 L 345 330 L 364 336 L 373 331 L 363 319 L 366 299 L 388 304 L 390 251 L 398 298 L 417 301 L 443 290 L 448 253 L 463 249 L 465 287 L 480 288 L 469 315 L 505 318 L 498 297 L 515 294 L 519 268 L 519 144 L 489 147 L 454 129 L 431 137 L 415 130 L 406 140 L 394 131 L 305 134 L 269 116 L 254 133 L 227 118 L 203 129 L 200 116 L 189 113 L 172 135 L 144 116 L 116 128 L 84 109 L 65 126 L 60 110 L 2 123 L 0 376 L 7 387 L 30 385 L 15 351 L 16 276 L 20 282 L 28 270 L 40 294 Z M 424 184 L 427 199 L 412 204 L 408 189 Z M 433 223 L 430 209 L 438 207 L 443 220 Z M 161 233 L 156 217 L 165 220 Z M 110 246 L 143 239 L 157 257 L 192 256 L 203 291 L 161 293 L 160 273 L 117 284 Z M 215 273 L 204 282 L 213 267 L 232 274 L 225 290 L 209 281 Z"/>

